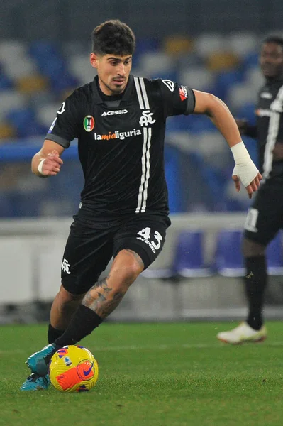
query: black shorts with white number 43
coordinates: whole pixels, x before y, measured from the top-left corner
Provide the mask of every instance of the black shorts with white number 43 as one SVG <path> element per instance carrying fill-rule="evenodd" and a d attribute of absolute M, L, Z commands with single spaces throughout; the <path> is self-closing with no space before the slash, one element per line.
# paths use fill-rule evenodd
<path fill-rule="evenodd" d="M 146 213 L 97 227 L 74 217 L 62 258 L 63 287 L 72 294 L 86 293 L 123 249 L 138 253 L 148 268 L 162 251 L 170 224 L 166 215 Z"/>

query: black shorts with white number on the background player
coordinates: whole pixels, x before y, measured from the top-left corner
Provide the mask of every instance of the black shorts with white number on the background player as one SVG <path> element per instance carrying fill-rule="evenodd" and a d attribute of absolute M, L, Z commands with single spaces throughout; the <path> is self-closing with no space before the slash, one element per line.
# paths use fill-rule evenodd
<path fill-rule="evenodd" d="M 260 185 L 245 220 L 247 239 L 267 246 L 283 228 L 283 179 L 272 178 Z"/>

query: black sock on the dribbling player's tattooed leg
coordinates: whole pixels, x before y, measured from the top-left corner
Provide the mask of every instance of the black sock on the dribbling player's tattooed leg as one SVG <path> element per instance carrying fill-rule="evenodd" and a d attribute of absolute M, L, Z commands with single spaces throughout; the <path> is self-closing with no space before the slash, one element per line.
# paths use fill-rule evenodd
<path fill-rule="evenodd" d="M 56 347 L 60 346 L 60 348 L 67 344 L 76 344 L 88 334 L 91 334 L 102 321 L 103 319 L 89 307 L 79 305 L 65 332 L 53 343 L 55 343 Z"/>

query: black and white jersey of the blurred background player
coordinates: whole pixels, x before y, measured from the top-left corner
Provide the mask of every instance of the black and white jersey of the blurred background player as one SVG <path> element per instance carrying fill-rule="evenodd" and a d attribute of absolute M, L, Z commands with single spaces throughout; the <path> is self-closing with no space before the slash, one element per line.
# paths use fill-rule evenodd
<path fill-rule="evenodd" d="M 275 143 L 283 143 L 283 80 L 267 81 L 260 89 L 255 114 L 260 171 L 265 179 L 283 176 L 283 161 L 274 161 Z"/>

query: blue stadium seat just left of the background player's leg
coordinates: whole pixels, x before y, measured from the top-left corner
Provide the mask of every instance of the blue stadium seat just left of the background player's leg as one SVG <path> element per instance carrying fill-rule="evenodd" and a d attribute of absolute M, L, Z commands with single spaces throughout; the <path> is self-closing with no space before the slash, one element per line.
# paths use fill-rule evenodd
<path fill-rule="evenodd" d="M 245 268 L 241 253 L 243 231 L 224 229 L 216 237 L 216 252 L 213 266 L 219 275 L 243 277 Z"/>

